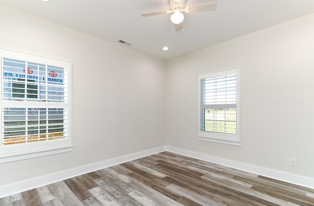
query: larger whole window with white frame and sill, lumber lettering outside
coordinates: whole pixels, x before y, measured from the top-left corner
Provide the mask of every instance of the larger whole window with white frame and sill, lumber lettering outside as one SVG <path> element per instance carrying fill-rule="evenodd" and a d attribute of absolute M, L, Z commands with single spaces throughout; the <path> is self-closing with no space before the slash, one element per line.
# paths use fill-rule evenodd
<path fill-rule="evenodd" d="M 71 151 L 71 63 L 4 49 L 0 60 L 0 163 Z"/>

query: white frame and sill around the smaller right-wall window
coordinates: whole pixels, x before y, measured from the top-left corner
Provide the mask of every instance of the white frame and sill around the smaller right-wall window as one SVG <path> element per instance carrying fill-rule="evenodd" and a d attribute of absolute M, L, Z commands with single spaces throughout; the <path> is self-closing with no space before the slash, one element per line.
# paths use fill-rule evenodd
<path fill-rule="evenodd" d="M 206 74 L 200 74 L 199 75 L 199 89 L 198 89 L 198 140 L 201 141 L 208 141 L 208 142 L 214 142 L 214 143 L 221 143 L 221 144 L 227 144 L 227 145 L 234 145 L 234 146 L 241 146 L 241 139 L 240 139 L 240 104 L 239 104 L 239 85 L 240 85 L 240 78 L 239 78 L 239 67 L 232 68 L 232 69 L 226 69 L 226 70 L 220 70 L 215 72 L 209 72 Z M 211 131 L 201 131 L 201 82 L 204 79 L 207 78 L 213 78 L 213 77 L 221 77 L 226 75 L 236 75 L 236 134 L 230 134 L 230 133 L 223 133 L 223 132 L 211 132 Z M 205 121 L 205 120 L 204 120 Z"/>

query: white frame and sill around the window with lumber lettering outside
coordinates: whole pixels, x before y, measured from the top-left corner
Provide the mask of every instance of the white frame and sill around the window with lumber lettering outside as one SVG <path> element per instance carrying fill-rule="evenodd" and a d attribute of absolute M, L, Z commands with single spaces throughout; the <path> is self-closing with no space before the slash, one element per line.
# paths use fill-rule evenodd
<path fill-rule="evenodd" d="M 50 140 L 50 141 L 38 141 L 32 143 L 22 143 L 22 144 L 13 144 L 13 145 L 4 145 L 0 144 L 0 163 L 17 161 L 22 159 L 34 158 L 39 156 L 69 152 L 73 150 L 72 145 L 72 102 L 71 102 L 71 89 L 72 89 L 72 74 L 71 74 L 71 62 L 64 61 L 59 59 L 52 59 L 37 55 L 26 54 L 22 52 L 6 50 L 0 48 L 0 60 L 2 58 L 23 60 L 26 62 L 36 62 L 44 65 L 52 65 L 64 68 L 64 72 L 67 72 L 67 102 L 49 102 L 49 101 L 8 101 L 0 99 L 0 111 L 2 108 L 66 108 L 67 109 L 67 138 Z M 0 77 L 0 88 L 3 89 L 2 79 L 4 78 L 4 70 L 1 66 L 1 77 Z M 64 77 L 65 78 L 65 77 Z M 28 86 L 28 84 L 26 84 Z M 24 89 L 27 89 L 26 88 Z M 2 92 L 1 92 L 2 93 Z M 39 96 L 39 94 L 37 94 Z M 27 98 L 27 97 L 26 97 Z M 0 113 L 0 118 L 2 119 L 2 112 Z M 0 124 L 0 131 L 2 136 L 2 123 Z M 2 137 L 1 137 L 2 138 Z"/>

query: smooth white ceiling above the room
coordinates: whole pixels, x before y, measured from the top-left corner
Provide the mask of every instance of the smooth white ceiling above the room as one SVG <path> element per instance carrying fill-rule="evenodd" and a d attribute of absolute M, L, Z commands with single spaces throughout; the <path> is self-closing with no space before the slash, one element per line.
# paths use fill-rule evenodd
<path fill-rule="evenodd" d="M 186 6 L 210 2 L 218 3 L 215 11 L 184 14 L 183 31 L 175 31 L 171 14 L 140 15 L 169 9 L 168 0 L 0 0 L 0 4 L 161 59 L 314 13 L 314 0 L 186 0 Z M 163 51 L 163 46 L 169 50 Z"/>

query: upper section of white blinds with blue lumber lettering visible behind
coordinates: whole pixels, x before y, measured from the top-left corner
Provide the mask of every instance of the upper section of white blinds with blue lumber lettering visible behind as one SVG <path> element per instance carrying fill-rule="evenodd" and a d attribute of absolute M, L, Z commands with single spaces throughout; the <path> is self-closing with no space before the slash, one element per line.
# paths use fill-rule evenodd
<path fill-rule="evenodd" d="M 2 100 L 67 102 L 68 74 L 64 68 L 1 58 Z"/>

